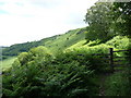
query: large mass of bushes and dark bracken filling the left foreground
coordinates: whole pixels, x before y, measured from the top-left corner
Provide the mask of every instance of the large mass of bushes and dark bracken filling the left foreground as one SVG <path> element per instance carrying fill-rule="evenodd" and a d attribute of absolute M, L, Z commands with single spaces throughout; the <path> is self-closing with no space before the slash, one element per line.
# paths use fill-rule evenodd
<path fill-rule="evenodd" d="M 67 62 L 70 61 L 70 62 Z M 69 53 L 53 57 L 45 47 L 23 52 L 3 74 L 3 97 L 80 97 L 96 95 L 88 62 Z"/>

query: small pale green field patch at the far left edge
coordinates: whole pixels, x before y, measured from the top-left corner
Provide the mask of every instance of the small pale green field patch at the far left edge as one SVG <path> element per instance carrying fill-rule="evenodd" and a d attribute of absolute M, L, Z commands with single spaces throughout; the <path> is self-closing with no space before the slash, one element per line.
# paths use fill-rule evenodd
<path fill-rule="evenodd" d="M 3 61 L 0 61 L 0 63 L 2 63 L 2 71 L 11 68 L 12 63 L 14 62 L 14 60 L 16 59 L 16 57 L 10 57 Z"/>

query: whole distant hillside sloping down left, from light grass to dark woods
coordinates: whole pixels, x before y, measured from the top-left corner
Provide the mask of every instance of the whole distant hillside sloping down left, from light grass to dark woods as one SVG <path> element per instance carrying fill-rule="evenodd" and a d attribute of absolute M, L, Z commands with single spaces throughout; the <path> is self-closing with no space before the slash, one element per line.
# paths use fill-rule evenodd
<path fill-rule="evenodd" d="M 44 38 L 39 41 L 24 42 L 24 44 L 15 44 L 11 47 L 3 49 L 3 57 L 5 56 L 17 56 L 20 52 L 28 51 L 33 47 L 45 46 L 51 50 L 51 52 L 56 52 L 57 50 L 63 50 L 85 38 L 85 27 L 78 28 L 67 32 L 62 35 L 56 35 L 52 37 Z"/>

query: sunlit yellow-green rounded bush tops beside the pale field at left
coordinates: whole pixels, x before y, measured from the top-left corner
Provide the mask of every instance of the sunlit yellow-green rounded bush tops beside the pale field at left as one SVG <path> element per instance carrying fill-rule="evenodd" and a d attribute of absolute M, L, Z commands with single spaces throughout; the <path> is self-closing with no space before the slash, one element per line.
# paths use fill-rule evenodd
<path fill-rule="evenodd" d="M 28 63 L 46 61 L 46 59 L 52 57 L 49 50 L 43 46 L 31 49 L 28 52 L 22 52 L 17 57 L 15 62 L 19 62 L 21 65 L 26 65 Z"/>

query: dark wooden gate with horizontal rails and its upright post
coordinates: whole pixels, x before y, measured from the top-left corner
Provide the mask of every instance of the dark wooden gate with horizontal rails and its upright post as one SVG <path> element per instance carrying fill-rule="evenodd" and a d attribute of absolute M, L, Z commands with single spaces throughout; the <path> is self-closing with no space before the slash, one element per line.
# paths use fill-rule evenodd
<path fill-rule="evenodd" d="M 115 68 L 117 66 L 126 66 L 128 65 L 129 63 L 127 62 L 126 60 L 126 54 L 120 54 L 121 53 L 126 53 L 130 50 L 117 50 L 115 51 L 114 48 L 109 48 L 109 53 L 95 53 L 95 54 L 92 54 L 92 56 L 98 56 L 104 62 L 106 65 L 110 65 L 110 69 L 111 69 L 111 72 L 115 71 Z M 116 54 L 118 53 L 118 54 Z"/>

